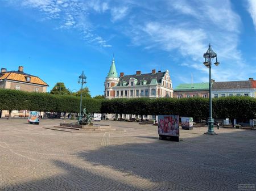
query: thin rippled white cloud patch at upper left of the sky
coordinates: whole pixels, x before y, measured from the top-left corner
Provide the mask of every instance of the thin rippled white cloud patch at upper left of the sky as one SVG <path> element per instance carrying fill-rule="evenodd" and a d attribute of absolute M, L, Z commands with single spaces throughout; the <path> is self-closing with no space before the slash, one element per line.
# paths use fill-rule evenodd
<path fill-rule="evenodd" d="M 16 3 L 17 4 L 17 3 Z M 82 2 L 78 0 L 22 0 L 18 6 L 39 10 L 44 19 L 59 21 L 57 29 L 76 29 L 86 42 L 93 42 L 102 47 L 111 47 L 102 37 L 94 33 L 93 24 L 89 21 L 90 10 L 105 12 L 109 9 L 108 3 L 93 0 Z"/>

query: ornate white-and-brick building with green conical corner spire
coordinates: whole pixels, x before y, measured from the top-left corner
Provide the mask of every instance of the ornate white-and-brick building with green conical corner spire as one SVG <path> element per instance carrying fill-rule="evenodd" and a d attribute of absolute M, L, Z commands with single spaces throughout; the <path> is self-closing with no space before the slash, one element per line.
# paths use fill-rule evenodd
<path fill-rule="evenodd" d="M 132 98 L 132 97 L 173 97 L 172 80 L 169 71 L 152 70 L 151 73 L 117 75 L 114 58 L 108 76 L 105 80 L 105 98 Z"/>

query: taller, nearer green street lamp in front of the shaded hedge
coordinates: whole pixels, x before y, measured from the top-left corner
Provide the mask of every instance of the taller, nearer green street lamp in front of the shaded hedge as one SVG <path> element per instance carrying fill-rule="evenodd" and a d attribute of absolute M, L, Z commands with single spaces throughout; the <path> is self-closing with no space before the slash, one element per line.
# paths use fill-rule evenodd
<path fill-rule="evenodd" d="M 217 54 L 213 52 L 212 48 L 209 48 L 206 53 L 204 53 L 204 65 L 209 68 L 209 118 L 208 118 L 208 131 L 205 134 L 210 134 L 210 135 L 216 135 L 216 133 L 213 130 L 213 124 L 214 120 L 212 118 L 212 77 L 211 77 L 211 68 L 212 68 L 212 58 L 216 57 L 216 62 L 214 65 L 218 66 L 220 62 L 217 60 Z"/>

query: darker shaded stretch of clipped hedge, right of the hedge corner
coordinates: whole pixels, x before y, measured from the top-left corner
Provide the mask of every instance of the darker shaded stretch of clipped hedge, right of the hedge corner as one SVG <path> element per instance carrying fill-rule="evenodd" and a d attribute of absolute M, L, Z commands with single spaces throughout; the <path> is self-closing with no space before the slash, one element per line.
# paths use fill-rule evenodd
<path fill-rule="evenodd" d="M 250 119 L 256 114 L 256 99 L 253 97 L 220 97 L 212 100 L 213 118 Z M 209 117 L 209 99 L 191 97 L 183 99 L 113 99 L 104 100 L 102 113 L 126 114 L 179 114 L 195 120 Z"/>

